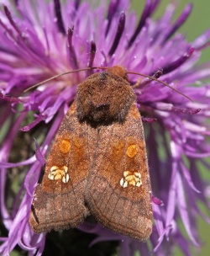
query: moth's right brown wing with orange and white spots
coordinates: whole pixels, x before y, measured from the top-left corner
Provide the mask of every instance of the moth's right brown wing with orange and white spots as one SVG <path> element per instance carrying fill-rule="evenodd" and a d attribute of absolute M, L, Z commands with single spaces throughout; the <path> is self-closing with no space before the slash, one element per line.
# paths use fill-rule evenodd
<path fill-rule="evenodd" d="M 150 174 L 139 110 L 123 125 L 102 127 L 85 200 L 92 216 L 114 232 L 145 241 L 152 231 Z"/>

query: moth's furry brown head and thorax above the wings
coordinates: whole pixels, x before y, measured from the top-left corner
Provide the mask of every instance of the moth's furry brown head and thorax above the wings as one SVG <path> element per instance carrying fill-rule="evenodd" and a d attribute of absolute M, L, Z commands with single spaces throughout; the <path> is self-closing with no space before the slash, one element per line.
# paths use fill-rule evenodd
<path fill-rule="evenodd" d="M 79 84 L 76 93 L 77 115 L 81 121 L 122 122 L 135 99 L 126 70 L 112 67 L 87 77 Z"/>

